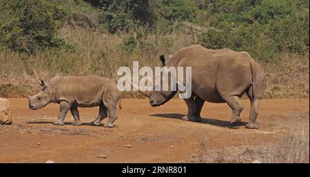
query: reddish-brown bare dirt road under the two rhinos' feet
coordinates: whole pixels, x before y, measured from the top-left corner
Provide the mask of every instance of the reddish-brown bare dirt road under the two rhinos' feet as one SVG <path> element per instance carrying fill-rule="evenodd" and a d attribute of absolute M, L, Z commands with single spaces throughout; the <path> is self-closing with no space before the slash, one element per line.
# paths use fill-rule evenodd
<path fill-rule="evenodd" d="M 201 151 L 200 140 L 207 136 L 208 148 L 259 147 L 277 142 L 286 132 L 309 132 L 309 116 L 291 116 L 306 112 L 309 99 L 262 100 L 260 129 L 245 129 L 249 101 L 242 123 L 230 127 L 231 110 L 226 104 L 206 103 L 202 123 L 182 121 L 187 107 L 174 99 L 161 107 L 151 107 L 146 99 L 123 99 L 123 109 L 114 128 L 90 125 L 98 107 L 79 108 L 83 125 L 71 125 L 68 113 L 64 126 L 52 125 L 59 107 L 50 104 L 41 110 L 28 108 L 25 98 L 10 98 L 13 124 L 0 126 L 0 163 L 178 163 L 194 162 Z M 106 123 L 107 119 L 103 121 Z M 308 135 L 309 136 L 309 135 Z M 132 145 L 132 147 L 125 147 Z M 98 158 L 104 155 L 106 158 Z"/>

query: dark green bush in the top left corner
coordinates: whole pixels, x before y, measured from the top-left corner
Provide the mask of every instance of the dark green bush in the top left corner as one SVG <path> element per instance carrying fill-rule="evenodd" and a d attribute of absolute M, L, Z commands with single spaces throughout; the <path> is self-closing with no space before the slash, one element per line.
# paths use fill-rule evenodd
<path fill-rule="evenodd" d="M 47 1 L 0 1 L 0 45 L 21 52 L 58 46 L 65 12 Z"/>

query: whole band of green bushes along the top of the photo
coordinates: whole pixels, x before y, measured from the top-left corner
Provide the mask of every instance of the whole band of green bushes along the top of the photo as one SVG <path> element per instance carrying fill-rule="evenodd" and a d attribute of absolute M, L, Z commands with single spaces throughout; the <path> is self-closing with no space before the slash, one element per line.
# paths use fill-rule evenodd
<path fill-rule="evenodd" d="M 67 12 L 62 10 L 68 7 Z M 207 48 L 245 50 L 263 61 L 276 60 L 282 53 L 309 52 L 306 0 L 76 0 L 69 5 L 61 0 L 1 1 L 0 45 L 28 53 L 59 46 L 62 41 L 56 30 L 61 19 L 66 16 L 70 21 L 72 12 L 81 9 L 86 9 L 82 12 L 85 16 L 90 10 L 92 19 L 98 16 L 95 26 L 99 25 L 101 32 L 135 34 L 124 43 L 129 53 L 154 45 L 147 42 L 148 34 L 188 32 L 183 22 L 202 29 L 190 34 L 196 39 L 193 43 Z"/>

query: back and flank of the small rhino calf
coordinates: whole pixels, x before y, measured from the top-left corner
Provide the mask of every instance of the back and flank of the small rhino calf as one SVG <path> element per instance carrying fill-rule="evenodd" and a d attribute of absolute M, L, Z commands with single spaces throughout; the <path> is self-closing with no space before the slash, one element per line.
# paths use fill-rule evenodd
<path fill-rule="evenodd" d="M 118 92 L 116 83 L 100 76 L 63 76 L 56 88 L 56 98 L 81 107 L 99 105 L 103 92 Z"/>

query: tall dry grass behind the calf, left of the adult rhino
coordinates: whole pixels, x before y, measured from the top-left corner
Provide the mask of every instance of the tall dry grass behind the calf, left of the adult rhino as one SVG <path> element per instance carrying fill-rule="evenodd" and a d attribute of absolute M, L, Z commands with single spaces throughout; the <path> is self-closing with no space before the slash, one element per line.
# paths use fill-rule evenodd
<path fill-rule="evenodd" d="M 139 35 L 136 32 L 103 34 L 79 26 L 73 28 L 71 25 L 61 28 L 59 35 L 66 43 L 70 43 L 72 48 L 37 51 L 32 55 L 0 50 L 0 96 L 25 96 L 34 91 L 32 85 L 37 84 L 37 79 L 48 80 L 54 76 L 96 74 L 117 81 L 118 67 L 132 67 L 133 61 L 139 61 L 140 67 L 159 66 L 160 54 L 171 54 L 193 43 L 192 36 L 183 33 L 147 34 L 136 39 Z M 8 84 L 27 89 L 4 91 Z M 3 92 L 8 93 L 1 94 Z M 125 97 L 142 97 L 137 93 L 124 94 Z"/>

